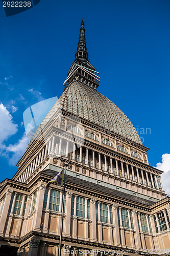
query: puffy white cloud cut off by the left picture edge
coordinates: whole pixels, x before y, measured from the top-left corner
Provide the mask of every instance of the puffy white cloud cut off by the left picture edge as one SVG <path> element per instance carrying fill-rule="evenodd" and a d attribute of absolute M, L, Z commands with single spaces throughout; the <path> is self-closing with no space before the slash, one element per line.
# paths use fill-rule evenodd
<path fill-rule="evenodd" d="M 2 103 L 0 104 L 0 120 L 0 143 L 3 143 L 4 140 L 17 133 L 18 125 L 13 122 L 12 116 Z"/>

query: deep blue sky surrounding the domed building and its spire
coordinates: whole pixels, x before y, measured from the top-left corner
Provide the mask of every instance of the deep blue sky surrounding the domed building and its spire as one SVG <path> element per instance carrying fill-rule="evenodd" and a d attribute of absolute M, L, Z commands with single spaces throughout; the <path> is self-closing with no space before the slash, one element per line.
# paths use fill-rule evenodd
<path fill-rule="evenodd" d="M 82 18 L 89 61 L 100 72 L 98 91 L 139 132 L 144 131 L 139 135 L 151 148 L 150 165 L 161 163 L 167 154 L 166 164 L 158 165 L 168 173 L 169 13 L 168 0 L 41 0 L 34 8 L 10 17 L 1 5 L 1 180 L 13 177 L 28 143 L 23 112 L 38 101 L 62 94 L 75 59 Z"/>

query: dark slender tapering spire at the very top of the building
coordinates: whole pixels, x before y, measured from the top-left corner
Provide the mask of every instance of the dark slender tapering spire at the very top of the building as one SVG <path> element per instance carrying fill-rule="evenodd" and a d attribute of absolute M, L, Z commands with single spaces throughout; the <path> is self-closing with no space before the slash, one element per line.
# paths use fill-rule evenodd
<path fill-rule="evenodd" d="M 81 22 L 79 42 L 78 42 L 78 47 L 77 47 L 77 52 L 75 54 L 75 57 L 76 57 L 76 59 L 88 60 L 88 52 L 87 52 L 87 47 L 86 47 L 85 28 L 84 28 L 83 19 Z"/>

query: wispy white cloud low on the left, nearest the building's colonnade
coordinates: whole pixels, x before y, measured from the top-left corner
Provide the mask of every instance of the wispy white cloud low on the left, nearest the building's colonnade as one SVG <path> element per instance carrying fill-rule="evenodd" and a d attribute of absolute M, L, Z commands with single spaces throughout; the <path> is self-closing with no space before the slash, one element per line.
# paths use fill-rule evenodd
<path fill-rule="evenodd" d="M 20 157 L 25 152 L 29 141 L 30 140 L 27 138 L 26 133 L 24 133 L 22 138 L 19 139 L 17 143 L 15 143 L 14 145 L 10 144 L 6 147 L 7 153 L 13 153 L 12 157 L 10 157 L 9 159 L 10 165 L 15 165 L 19 161 Z"/>

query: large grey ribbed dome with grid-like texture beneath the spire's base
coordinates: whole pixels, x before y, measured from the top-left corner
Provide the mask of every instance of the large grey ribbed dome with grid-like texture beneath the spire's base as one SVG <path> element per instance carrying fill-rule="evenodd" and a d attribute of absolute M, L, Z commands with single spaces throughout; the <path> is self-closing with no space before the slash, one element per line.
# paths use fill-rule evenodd
<path fill-rule="evenodd" d="M 108 98 L 80 81 L 72 81 L 59 98 L 61 109 L 142 144 L 128 117 Z"/>

